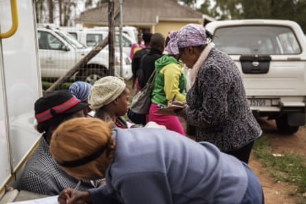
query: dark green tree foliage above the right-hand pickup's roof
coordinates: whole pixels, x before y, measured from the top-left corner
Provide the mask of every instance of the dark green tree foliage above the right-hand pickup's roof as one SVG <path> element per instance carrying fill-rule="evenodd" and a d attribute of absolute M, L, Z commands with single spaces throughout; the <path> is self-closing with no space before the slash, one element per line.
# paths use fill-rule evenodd
<path fill-rule="evenodd" d="M 306 32 L 305 0 L 205 0 L 199 11 L 217 20 L 288 19 L 300 24 Z"/>

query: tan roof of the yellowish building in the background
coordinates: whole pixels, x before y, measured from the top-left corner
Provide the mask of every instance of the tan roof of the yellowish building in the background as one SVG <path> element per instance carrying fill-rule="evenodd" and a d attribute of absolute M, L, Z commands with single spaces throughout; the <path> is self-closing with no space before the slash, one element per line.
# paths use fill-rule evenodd
<path fill-rule="evenodd" d="M 115 1 L 115 12 L 119 10 Z M 184 21 L 184 19 L 203 19 L 203 14 L 173 0 L 123 0 L 124 25 L 155 25 L 157 19 L 163 21 Z M 108 24 L 108 3 L 98 8 L 82 12 L 77 22 L 95 25 Z"/>

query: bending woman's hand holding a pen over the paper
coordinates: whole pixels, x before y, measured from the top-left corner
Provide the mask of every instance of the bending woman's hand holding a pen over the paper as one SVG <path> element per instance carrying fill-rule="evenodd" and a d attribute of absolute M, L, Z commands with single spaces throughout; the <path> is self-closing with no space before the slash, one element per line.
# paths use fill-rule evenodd
<path fill-rule="evenodd" d="M 58 203 L 60 204 L 91 204 L 91 196 L 89 192 L 81 192 L 76 191 L 74 194 L 72 194 L 74 190 L 72 188 L 66 188 L 63 190 L 57 198 Z"/>

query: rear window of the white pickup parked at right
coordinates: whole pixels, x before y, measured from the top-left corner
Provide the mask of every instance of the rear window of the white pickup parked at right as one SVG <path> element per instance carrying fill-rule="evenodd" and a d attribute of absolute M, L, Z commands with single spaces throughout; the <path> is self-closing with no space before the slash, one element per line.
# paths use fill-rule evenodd
<path fill-rule="evenodd" d="M 227 54 L 299 54 L 300 45 L 289 27 L 235 26 L 215 31 L 216 47 Z"/>

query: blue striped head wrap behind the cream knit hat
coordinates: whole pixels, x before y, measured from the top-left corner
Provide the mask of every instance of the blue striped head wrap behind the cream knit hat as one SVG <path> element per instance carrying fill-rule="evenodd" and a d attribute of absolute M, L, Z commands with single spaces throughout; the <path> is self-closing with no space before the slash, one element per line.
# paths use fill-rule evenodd
<path fill-rule="evenodd" d="M 69 87 L 70 93 L 83 102 L 87 102 L 90 89 L 91 84 L 82 81 L 74 82 Z"/>

